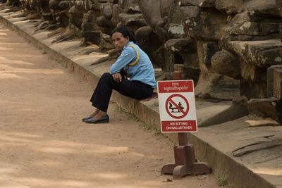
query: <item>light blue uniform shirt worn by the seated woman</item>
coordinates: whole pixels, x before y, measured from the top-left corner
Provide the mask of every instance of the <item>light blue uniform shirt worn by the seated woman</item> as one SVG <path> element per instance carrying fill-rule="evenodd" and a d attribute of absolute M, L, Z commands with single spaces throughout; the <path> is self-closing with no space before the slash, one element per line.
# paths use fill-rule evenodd
<path fill-rule="evenodd" d="M 119 73 L 121 69 L 124 68 L 131 81 L 137 80 L 145 84 L 149 84 L 153 88 L 157 87 L 154 76 L 154 68 L 147 54 L 133 42 L 128 42 L 128 44 L 134 45 L 136 50 L 139 52 L 140 58 L 138 63 L 134 66 L 128 66 L 128 63 L 136 60 L 137 55 L 135 49 L 126 45 L 123 47 L 121 56 L 119 56 L 116 62 L 111 65 L 110 73 Z"/>

